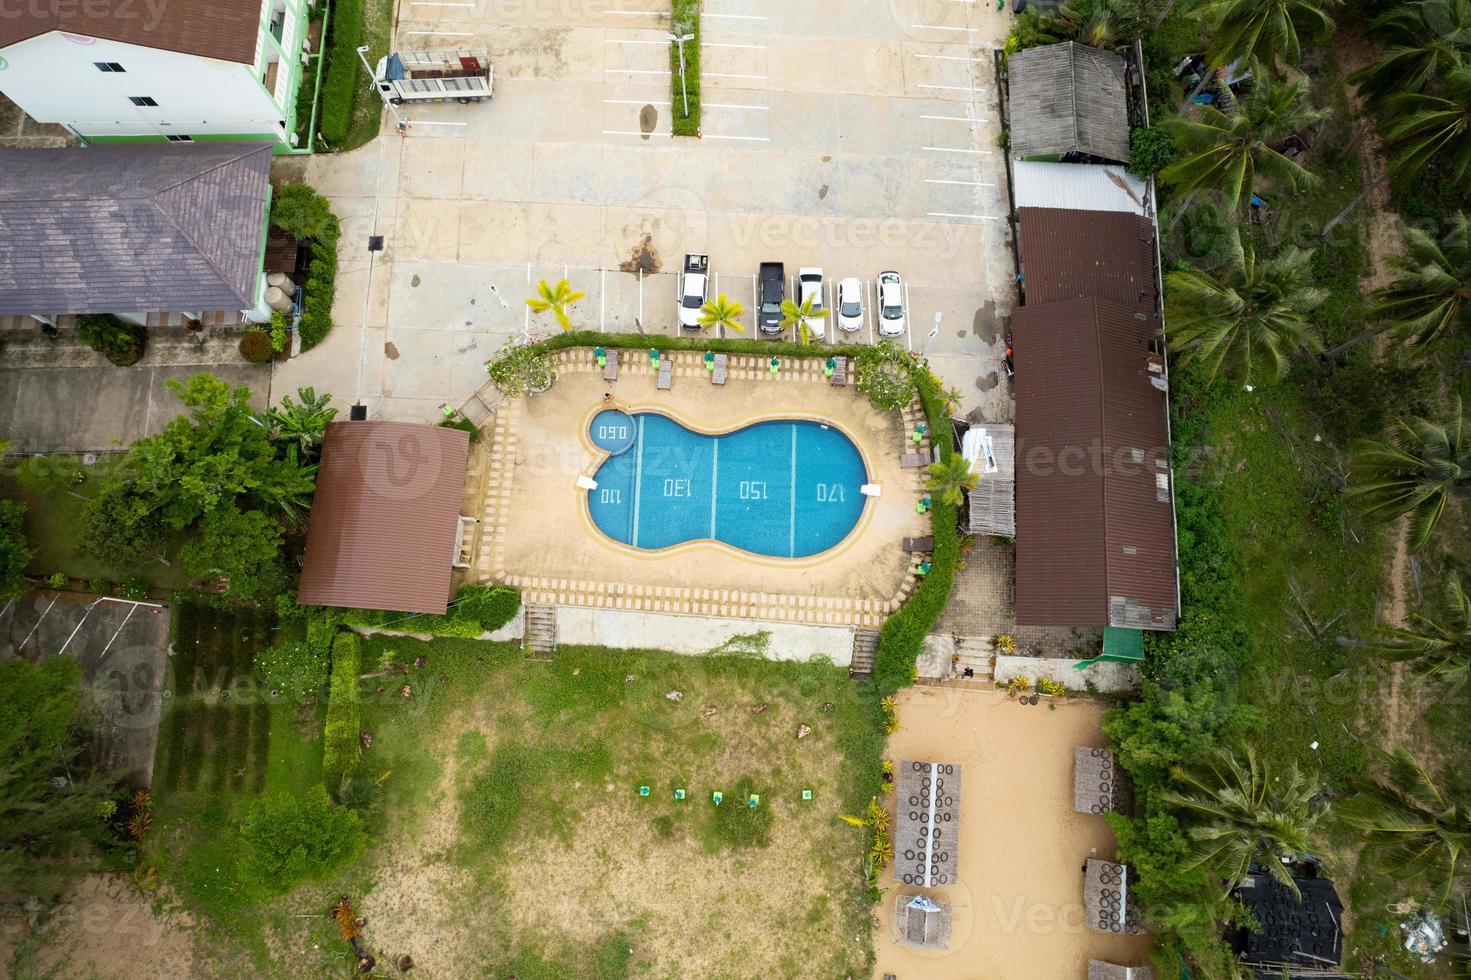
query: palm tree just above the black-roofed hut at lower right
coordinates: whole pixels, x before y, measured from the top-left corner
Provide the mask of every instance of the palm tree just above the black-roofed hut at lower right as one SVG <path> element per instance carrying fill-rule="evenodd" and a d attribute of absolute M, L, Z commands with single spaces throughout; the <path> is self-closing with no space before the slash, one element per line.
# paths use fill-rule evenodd
<path fill-rule="evenodd" d="M 1205 867 L 1231 886 L 1255 862 L 1296 895 L 1283 858 L 1309 849 L 1312 830 L 1327 812 L 1314 803 L 1321 787 L 1296 765 L 1272 775 L 1250 746 L 1244 756 L 1217 749 L 1203 765 L 1172 771 L 1178 789 L 1165 790 L 1162 799 L 1184 811 L 1194 842 L 1183 870 Z"/>

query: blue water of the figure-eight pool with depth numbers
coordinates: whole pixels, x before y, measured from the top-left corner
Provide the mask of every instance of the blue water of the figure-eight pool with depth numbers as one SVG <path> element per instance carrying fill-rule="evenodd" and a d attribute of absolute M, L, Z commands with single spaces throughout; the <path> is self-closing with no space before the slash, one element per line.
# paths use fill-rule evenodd
<path fill-rule="evenodd" d="M 656 412 L 609 409 L 590 434 L 613 453 L 593 474 L 593 522 L 634 547 L 713 539 L 756 555 L 806 558 L 847 537 L 863 512 L 863 458 L 819 422 L 756 422 L 706 436 Z"/>

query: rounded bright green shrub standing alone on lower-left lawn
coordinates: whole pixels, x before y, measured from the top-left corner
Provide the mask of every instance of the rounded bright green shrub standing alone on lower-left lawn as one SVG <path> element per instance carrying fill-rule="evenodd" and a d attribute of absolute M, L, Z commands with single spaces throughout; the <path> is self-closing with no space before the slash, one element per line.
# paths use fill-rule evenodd
<path fill-rule="evenodd" d="M 272 893 L 331 874 L 360 856 L 368 843 L 357 814 L 332 803 L 321 786 L 256 800 L 240 837 L 241 874 Z"/>

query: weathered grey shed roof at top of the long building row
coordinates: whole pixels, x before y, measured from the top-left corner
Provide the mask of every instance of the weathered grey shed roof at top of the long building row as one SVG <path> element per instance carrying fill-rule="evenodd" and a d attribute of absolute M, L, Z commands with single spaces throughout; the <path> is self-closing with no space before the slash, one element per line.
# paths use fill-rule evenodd
<path fill-rule="evenodd" d="M 1086 153 L 1128 160 L 1124 59 L 1066 41 L 1006 60 L 1009 147 L 1015 157 Z"/>

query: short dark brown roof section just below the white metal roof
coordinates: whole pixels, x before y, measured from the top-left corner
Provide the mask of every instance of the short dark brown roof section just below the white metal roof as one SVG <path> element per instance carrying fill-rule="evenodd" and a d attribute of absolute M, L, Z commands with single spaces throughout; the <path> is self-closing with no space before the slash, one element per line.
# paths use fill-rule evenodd
<path fill-rule="evenodd" d="M 1111 210 L 1021 207 L 1022 291 L 1027 303 L 1099 297 L 1155 316 L 1155 227 Z"/>

